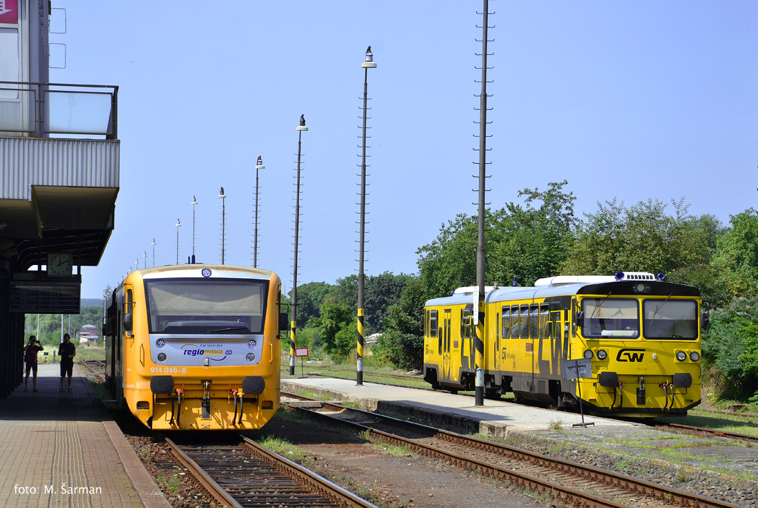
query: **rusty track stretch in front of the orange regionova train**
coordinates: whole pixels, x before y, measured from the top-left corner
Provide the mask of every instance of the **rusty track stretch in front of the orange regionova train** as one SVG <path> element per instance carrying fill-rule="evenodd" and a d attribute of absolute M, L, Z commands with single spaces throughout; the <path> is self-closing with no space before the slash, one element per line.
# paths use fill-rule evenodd
<path fill-rule="evenodd" d="M 246 508 L 376 508 L 325 478 L 240 436 L 239 444 L 176 444 L 171 452 L 219 503 Z"/>

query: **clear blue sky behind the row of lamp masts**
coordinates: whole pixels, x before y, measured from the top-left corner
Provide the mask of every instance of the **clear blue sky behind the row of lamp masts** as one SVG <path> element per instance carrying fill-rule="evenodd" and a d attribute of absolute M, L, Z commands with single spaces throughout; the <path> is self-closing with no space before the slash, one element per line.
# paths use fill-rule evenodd
<path fill-rule="evenodd" d="M 372 136 L 367 275 L 415 273 L 415 251 L 475 213 L 481 2 L 95 2 L 56 0 L 67 49 L 51 81 L 117 85 L 121 191 L 99 298 L 130 267 L 221 259 L 292 280 L 301 114 L 298 281 L 356 273 L 359 114 L 365 49 Z M 568 179 L 576 211 L 597 201 L 680 199 L 696 215 L 758 201 L 758 3 L 490 2 L 487 201 Z M 54 18 L 61 11 L 53 11 Z M 54 19 L 58 22 L 60 19 Z M 58 62 L 52 62 L 56 64 Z M 669 207 L 669 211 L 673 211 Z M 474 255 L 474 253 L 472 253 Z M 622 268 L 622 267 L 619 267 Z M 654 270 L 654 267 L 651 267 Z M 491 282 L 491 281 L 488 281 Z M 502 282 L 502 281 L 501 281 Z"/>

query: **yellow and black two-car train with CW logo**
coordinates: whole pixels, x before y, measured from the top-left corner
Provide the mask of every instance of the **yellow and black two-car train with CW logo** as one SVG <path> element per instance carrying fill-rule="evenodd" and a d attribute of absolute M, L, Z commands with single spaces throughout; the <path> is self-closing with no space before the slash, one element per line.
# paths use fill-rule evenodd
<path fill-rule="evenodd" d="M 686 415 L 700 404 L 700 328 L 708 314 L 697 288 L 662 279 L 619 272 L 488 287 L 485 397 L 511 391 L 517 401 L 577 410 L 581 398 L 597 415 Z M 424 379 L 434 388 L 475 388 L 475 294 L 459 288 L 426 302 Z M 566 369 L 578 364 L 581 375 Z"/>

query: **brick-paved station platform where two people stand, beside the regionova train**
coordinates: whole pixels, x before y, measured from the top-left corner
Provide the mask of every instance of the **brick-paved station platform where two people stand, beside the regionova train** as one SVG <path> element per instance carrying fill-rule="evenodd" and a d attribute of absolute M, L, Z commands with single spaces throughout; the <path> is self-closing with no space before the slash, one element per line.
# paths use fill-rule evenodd
<path fill-rule="evenodd" d="M 61 393 L 60 372 L 40 363 L 39 392 L 30 376 L 0 399 L 0 506 L 170 508 L 87 374 Z"/>

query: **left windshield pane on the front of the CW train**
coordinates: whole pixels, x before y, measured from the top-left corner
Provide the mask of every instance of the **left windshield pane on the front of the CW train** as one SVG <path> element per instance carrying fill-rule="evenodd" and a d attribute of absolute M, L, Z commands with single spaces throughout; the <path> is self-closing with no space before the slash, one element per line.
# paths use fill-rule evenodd
<path fill-rule="evenodd" d="M 637 300 L 622 298 L 584 298 L 581 333 L 587 338 L 640 336 L 640 310 Z"/>

